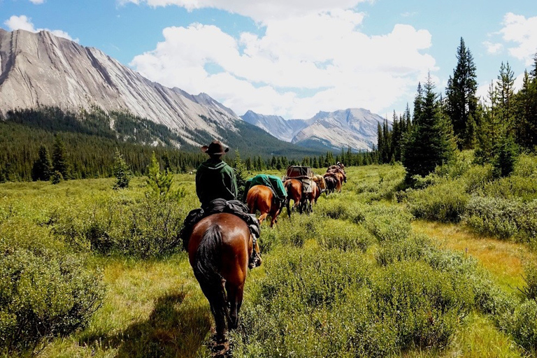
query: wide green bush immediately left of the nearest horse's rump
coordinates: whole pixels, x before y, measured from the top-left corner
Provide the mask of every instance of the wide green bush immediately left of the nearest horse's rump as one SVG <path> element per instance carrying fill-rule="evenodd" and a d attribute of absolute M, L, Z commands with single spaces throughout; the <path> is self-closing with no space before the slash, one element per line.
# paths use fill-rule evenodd
<path fill-rule="evenodd" d="M 118 193 L 95 199 L 78 212 L 63 208 L 51 225 L 77 248 L 148 258 L 180 250 L 185 215 L 182 206 L 166 197 L 126 200 Z"/>

